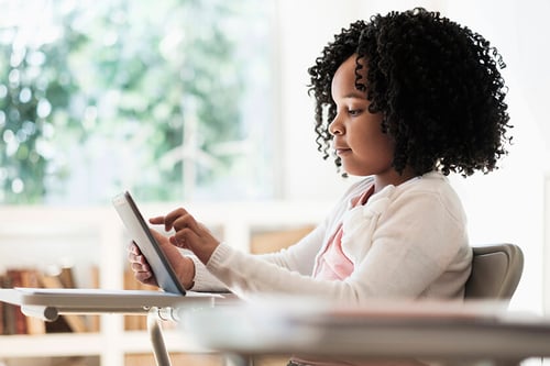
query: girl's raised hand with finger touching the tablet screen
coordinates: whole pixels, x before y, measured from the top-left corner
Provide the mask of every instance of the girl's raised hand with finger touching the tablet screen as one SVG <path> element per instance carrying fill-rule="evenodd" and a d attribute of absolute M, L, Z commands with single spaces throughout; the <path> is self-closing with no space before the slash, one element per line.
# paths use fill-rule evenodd
<path fill-rule="evenodd" d="M 174 229 L 176 233 L 169 237 L 169 242 L 191 251 L 204 264 L 208 263 L 213 251 L 220 245 L 205 225 L 195 221 L 195 218 L 182 208 L 165 217 L 153 218 L 150 222 L 163 224 L 166 231 Z"/>

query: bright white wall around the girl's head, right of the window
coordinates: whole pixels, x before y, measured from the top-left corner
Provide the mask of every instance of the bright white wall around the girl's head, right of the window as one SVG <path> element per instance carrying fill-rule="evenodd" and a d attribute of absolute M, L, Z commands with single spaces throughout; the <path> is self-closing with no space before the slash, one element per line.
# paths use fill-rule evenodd
<path fill-rule="evenodd" d="M 544 113 L 550 85 L 542 45 L 549 33 L 543 16 L 550 2 L 534 1 L 365 1 L 278 0 L 280 32 L 280 102 L 283 124 L 283 197 L 289 200 L 336 200 L 348 185 L 331 162 L 316 151 L 312 104 L 307 97 L 307 68 L 333 34 L 376 12 L 415 5 L 483 34 L 503 54 L 509 86 L 514 145 L 502 168 L 487 176 L 452 177 L 470 217 L 472 244 L 514 242 L 526 256 L 525 275 L 512 307 L 542 307 L 543 176 L 548 170 L 550 124 Z M 547 138 L 544 138 L 544 134 Z"/>

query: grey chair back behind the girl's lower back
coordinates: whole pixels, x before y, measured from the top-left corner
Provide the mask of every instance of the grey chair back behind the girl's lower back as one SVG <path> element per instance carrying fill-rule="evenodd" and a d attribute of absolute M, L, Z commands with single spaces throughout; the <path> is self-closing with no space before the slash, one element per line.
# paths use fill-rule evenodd
<path fill-rule="evenodd" d="M 512 298 L 524 270 L 524 254 L 515 244 L 473 247 L 472 273 L 465 285 L 464 298 Z"/>

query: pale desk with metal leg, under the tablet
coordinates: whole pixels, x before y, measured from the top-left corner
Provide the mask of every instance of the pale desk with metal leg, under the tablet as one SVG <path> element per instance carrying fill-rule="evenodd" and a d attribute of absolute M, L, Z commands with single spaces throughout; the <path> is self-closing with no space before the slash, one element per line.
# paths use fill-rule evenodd
<path fill-rule="evenodd" d="M 54 321 L 63 314 L 143 314 L 147 317 L 147 330 L 156 364 L 169 366 L 160 320 L 179 319 L 186 309 L 211 308 L 224 296 L 218 293 L 188 292 L 185 297 L 174 293 L 143 290 L 102 289 L 0 289 L 0 301 L 20 306 L 28 317 Z"/>

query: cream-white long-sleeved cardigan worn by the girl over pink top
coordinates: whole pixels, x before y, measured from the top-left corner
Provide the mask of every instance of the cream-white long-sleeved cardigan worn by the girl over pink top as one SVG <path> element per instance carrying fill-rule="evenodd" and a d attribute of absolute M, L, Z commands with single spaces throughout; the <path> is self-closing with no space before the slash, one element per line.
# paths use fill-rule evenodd
<path fill-rule="evenodd" d="M 387 186 L 353 208 L 353 198 L 372 184 L 371 177 L 354 184 L 319 226 L 287 249 L 252 255 L 222 243 L 207 266 L 195 258 L 193 289 L 226 287 L 242 298 L 285 293 L 355 304 L 372 298 L 462 298 L 472 251 L 464 210 L 448 179 L 430 173 Z M 354 270 L 342 281 L 312 278 L 317 257 L 340 222 L 342 248 Z"/>

